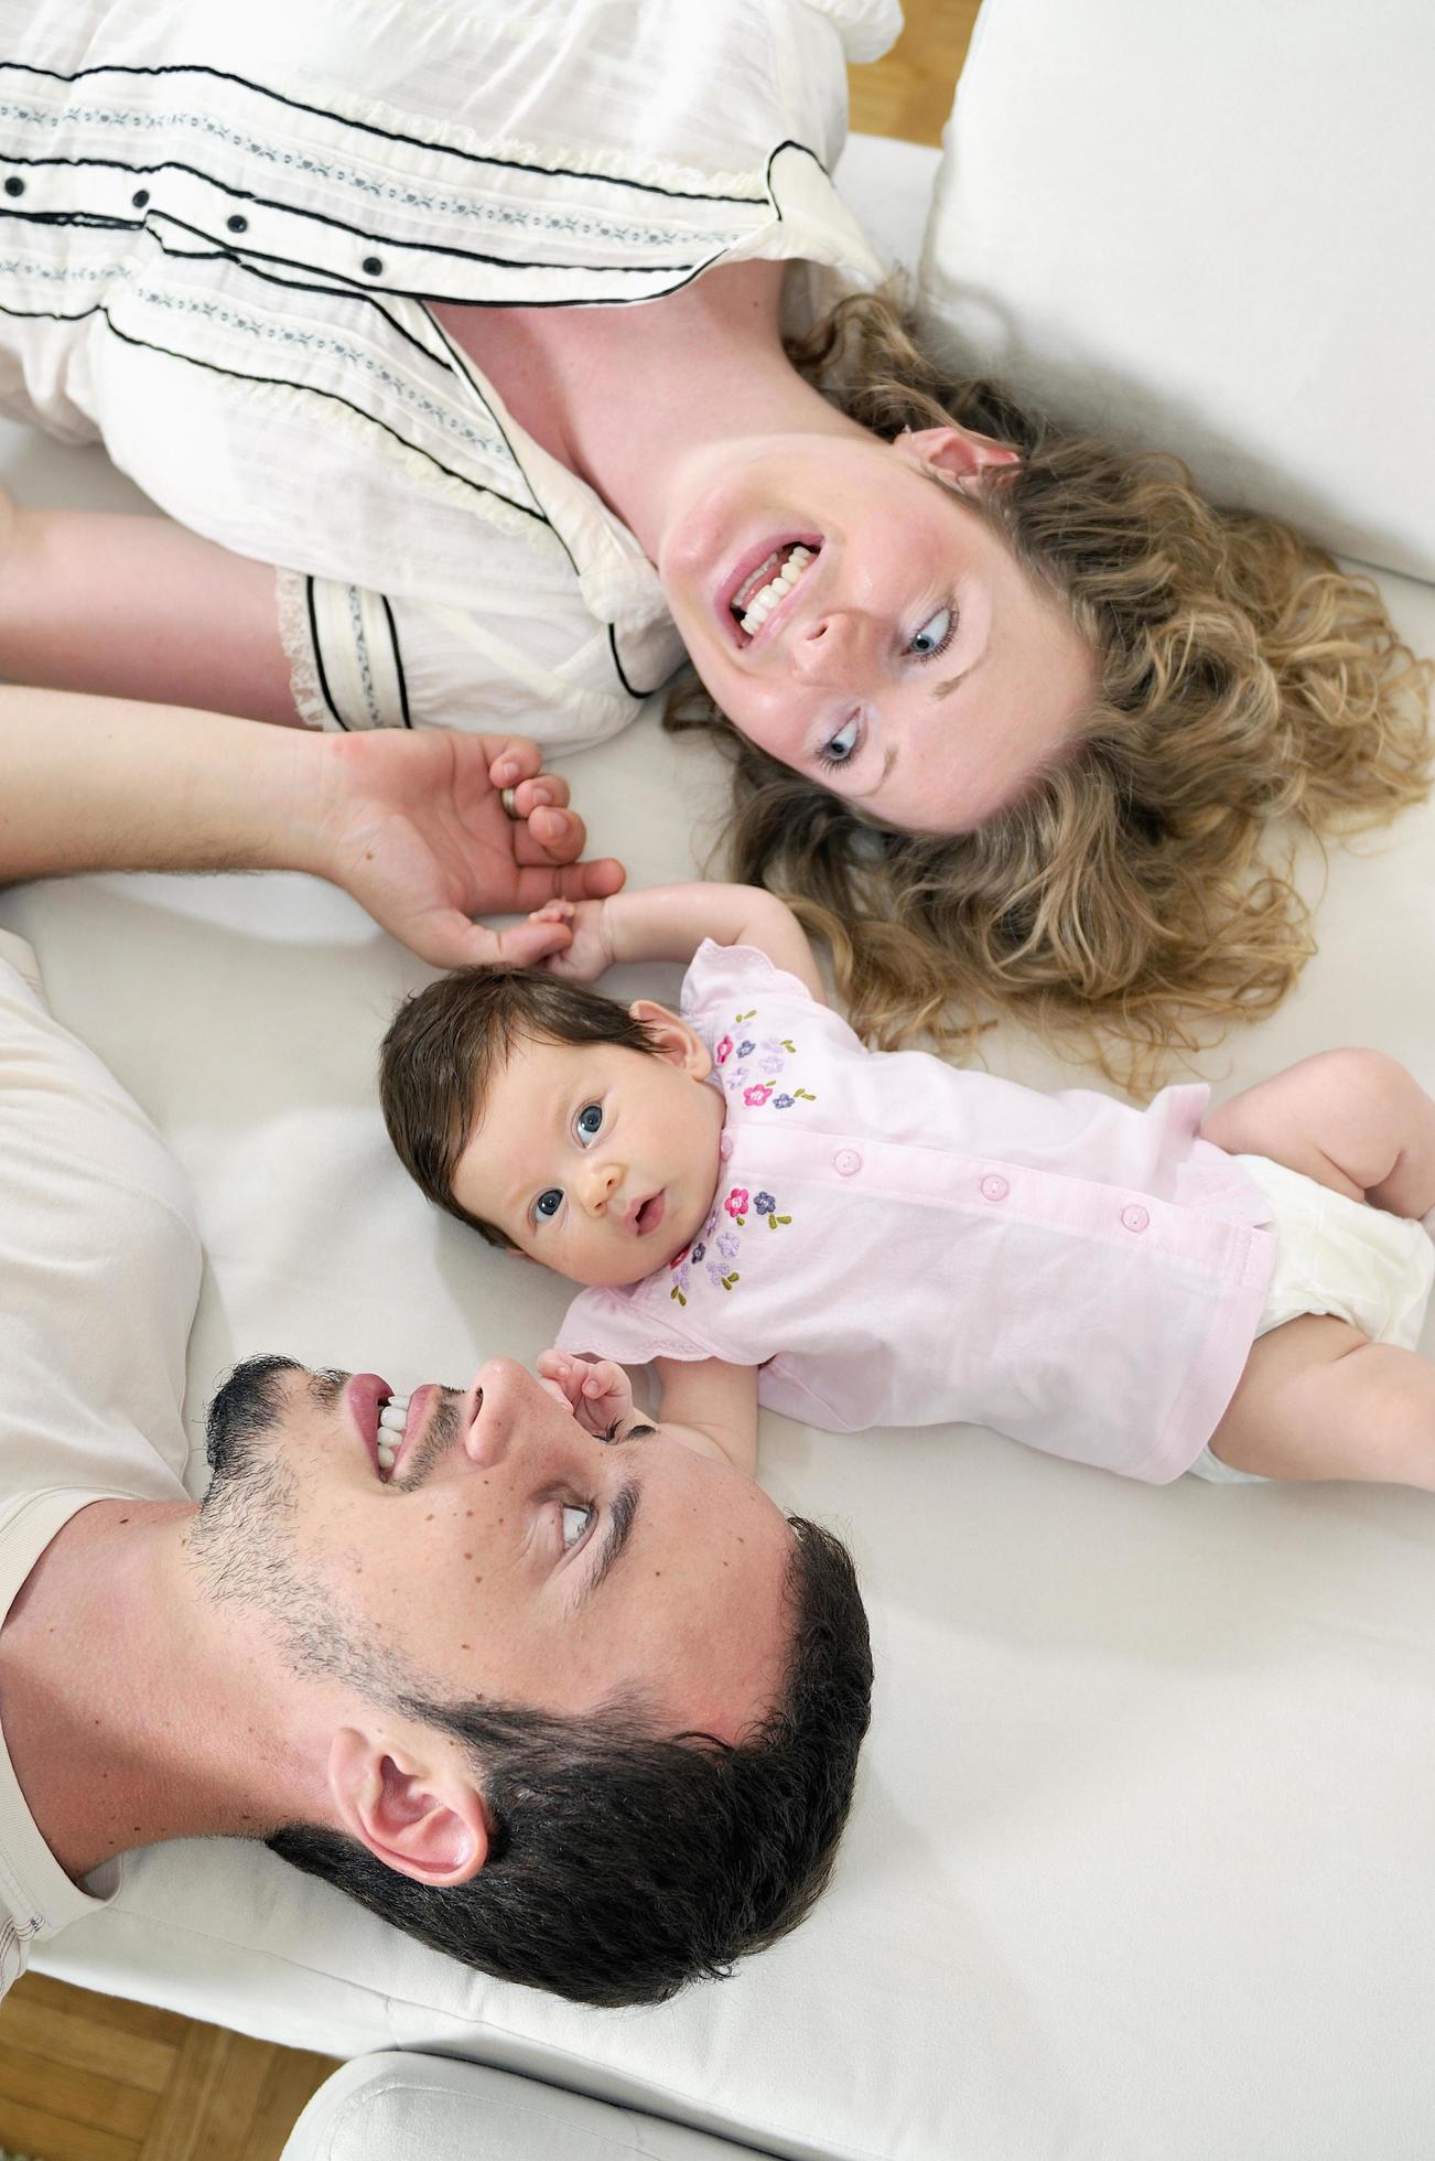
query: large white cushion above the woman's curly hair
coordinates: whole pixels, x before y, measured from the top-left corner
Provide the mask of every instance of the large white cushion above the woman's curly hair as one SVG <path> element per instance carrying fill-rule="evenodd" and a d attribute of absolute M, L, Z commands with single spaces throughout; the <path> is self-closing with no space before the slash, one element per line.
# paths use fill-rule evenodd
<path fill-rule="evenodd" d="M 1429 0 L 985 0 L 927 324 L 1221 501 L 1435 577 L 1433 95 Z"/>

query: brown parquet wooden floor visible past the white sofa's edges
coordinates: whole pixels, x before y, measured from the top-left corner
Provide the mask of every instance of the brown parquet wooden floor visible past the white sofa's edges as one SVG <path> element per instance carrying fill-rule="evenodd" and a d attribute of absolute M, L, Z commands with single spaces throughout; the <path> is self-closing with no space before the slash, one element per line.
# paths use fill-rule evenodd
<path fill-rule="evenodd" d="M 851 125 L 938 143 L 977 0 L 906 0 Z M 0 2003 L 0 2148 L 35 2161 L 277 2161 L 328 2057 L 26 1973 Z"/>

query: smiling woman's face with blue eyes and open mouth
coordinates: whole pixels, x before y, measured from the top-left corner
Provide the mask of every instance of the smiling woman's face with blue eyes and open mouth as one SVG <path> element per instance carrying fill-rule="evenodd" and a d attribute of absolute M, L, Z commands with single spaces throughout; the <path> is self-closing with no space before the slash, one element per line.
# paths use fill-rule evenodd
<path fill-rule="evenodd" d="M 962 428 L 763 437 L 696 460 L 657 568 L 733 726 L 886 826 L 962 832 L 1020 793 L 1096 666 L 936 478 L 1001 486 L 1014 462 Z"/>

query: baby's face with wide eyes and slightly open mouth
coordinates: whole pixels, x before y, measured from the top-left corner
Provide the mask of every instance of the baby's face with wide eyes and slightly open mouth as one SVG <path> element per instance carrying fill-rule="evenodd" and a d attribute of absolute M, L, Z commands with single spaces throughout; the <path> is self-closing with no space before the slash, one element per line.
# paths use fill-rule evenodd
<path fill-rule="evenodd" d="M 724 1104 L 681 1022 L 648 1057 L 519 1042 L 454 1169 L 454 1197 L 575 1284 L 638 1284 L 681 1253 L 718 1191 Z"/>

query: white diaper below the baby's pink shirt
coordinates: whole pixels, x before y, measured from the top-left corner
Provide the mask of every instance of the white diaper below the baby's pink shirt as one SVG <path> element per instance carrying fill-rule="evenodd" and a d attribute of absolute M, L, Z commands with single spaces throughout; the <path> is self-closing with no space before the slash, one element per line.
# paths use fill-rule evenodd
<path fill-rule="evenodd" d="M 1331 1193 L 1269 1156 L 1236 1156 L 1271 1204 L 1275 1269 L 1258 1335 L 1299 1314 L 1336 1314 L 1377 1344 L 1413 1351 L 1435 1281 L 1435 1245 L 1409 1217 Z M 1264 1485 L 1208 1448 L 1191 1465 L 1219 1485 Z"/>

